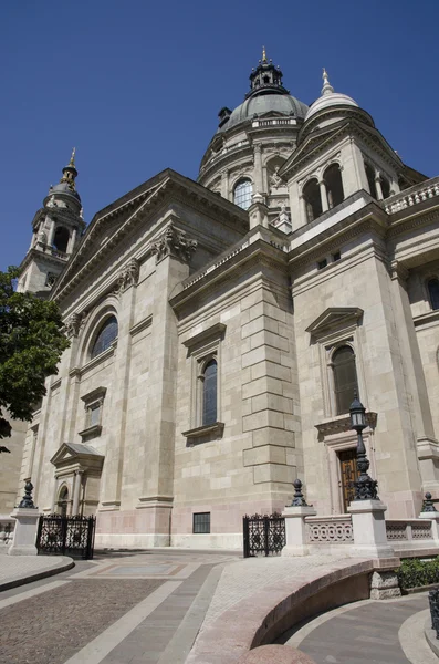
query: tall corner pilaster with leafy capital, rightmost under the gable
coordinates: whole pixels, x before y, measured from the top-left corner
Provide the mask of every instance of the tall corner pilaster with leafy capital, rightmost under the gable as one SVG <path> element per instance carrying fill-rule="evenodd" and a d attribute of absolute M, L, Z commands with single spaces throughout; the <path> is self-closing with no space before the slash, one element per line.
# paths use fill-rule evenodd
<path fill-rule="evenodd" d="M 169 297 L 189 276 L 197 242 L 169 224 L 153 243 L 156 255 L 146 421 L 144 488 L 137 509 L 143 518 L 146 546 L 168 546 L 174 500 L 175 400 L 178 332 Z"/>

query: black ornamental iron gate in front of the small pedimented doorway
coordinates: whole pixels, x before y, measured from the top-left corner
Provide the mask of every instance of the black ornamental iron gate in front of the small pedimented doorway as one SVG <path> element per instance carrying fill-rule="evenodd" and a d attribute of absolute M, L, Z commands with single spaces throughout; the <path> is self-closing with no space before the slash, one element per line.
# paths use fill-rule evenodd
<path fill-rule="evenodd" d="M 40 517 L 36 549 L 44 556 L 72 556 L 93 558 L 95 517 L 66 517 L 49 515 Z"/>

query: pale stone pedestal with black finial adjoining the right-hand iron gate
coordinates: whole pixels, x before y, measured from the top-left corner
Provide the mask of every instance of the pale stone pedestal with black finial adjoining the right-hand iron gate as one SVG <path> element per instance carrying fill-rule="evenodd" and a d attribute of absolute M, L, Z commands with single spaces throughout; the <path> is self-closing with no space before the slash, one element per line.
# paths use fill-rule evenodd
<path fill-rule="evenodd" d="M 286 544 L 282 549 L 282 556 L 307 556 L 310 553 L 306 543 L 306 517 L 315 517 L 317 510 L 312 505 L 306 505 L 302 494 L 302 483 L 294 480 L 295 495 L 291 506 L 285 507 L 282 516 L 285 519 Z"/>

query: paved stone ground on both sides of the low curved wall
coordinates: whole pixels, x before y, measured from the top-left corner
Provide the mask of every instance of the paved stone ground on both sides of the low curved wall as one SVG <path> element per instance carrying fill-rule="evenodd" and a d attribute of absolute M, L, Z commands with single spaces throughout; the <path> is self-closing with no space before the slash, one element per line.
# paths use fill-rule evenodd
<path fill-rule="evenodd" d="M 184 664 L 191 649 L 194 660 L 197 637 L 243 598 L 334 563 L 339 561 L 328 556 L 242 560 L 237 552 L 169 549 L 97 554 L 0 593 L 0 662 Z M 316 664 L 430 664 L 437 660 L 421 647 L 427 604 L 426 595 L 357 602 L 310 621 L 283 642 Z"/>

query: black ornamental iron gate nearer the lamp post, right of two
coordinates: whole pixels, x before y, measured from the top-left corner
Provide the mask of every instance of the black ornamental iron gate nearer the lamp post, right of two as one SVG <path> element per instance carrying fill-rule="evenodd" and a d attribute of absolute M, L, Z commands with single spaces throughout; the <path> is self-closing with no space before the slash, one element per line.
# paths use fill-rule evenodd
<path fill-rule="evenodd" d="M 244 558 L 252 556 L 279 554 L 286 543 L 285 519 L 274 512 L 270 517 L 264 515 L 244 516 Z"/>

